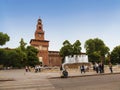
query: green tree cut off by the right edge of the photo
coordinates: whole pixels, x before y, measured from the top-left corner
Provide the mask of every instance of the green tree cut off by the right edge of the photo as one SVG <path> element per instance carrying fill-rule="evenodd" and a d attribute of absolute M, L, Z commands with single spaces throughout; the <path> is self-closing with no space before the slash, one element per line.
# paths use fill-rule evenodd
<path fill-rule="evenodd" d="M 111 55 L 110 55 L 110 62 L 113 64 L 117 64 L 117 63 L 120 64 L 120 45 L 116 46 L 112 50 Z"/>

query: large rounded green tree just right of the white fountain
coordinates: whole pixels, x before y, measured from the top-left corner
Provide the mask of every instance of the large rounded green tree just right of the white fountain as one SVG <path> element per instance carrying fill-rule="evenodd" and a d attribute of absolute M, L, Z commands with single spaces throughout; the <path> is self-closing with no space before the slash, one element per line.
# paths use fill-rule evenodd
<path fill-rule="evenodd" d="M 87 40 L 84 47 L 90 62 L 104 62 L 105 55 L 109 52 L 109 48 L 98 38 Z"/>

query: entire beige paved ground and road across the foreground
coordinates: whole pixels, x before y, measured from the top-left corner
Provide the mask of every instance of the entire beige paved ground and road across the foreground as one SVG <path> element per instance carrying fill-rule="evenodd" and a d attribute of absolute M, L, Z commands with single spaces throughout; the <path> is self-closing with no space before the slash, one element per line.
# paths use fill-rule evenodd
<path fill-rule="evenodd" d="M 80 74 L 78 70 L 69 71 L 69 78 L 60 78 L 59 71 L 39 73 L 25 70 L 1 70 L 0 90 L 120 90 L 120 73 L 108 70 L 104 75 L 95 72 Z"/>

